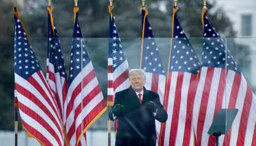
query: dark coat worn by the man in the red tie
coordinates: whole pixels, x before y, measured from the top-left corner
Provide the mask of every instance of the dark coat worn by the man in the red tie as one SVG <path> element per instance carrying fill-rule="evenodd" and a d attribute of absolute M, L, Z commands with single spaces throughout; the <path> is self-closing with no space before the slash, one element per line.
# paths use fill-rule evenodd
<path fill-rule="evenodd" d="M 149 101 L 156 103 L 156 116 L 153 116 L 151 106 L 146 103 Z M 156 92 L 144 88 L 142 105 L 140 105 L 137 94 L 130 87 L 115 94 L 114 106 L 116 104 L 124 106 L 121 113 L 116 115 L 118 119 L 116 138 L 156 140 L 155 119 L 165 122 L 168 117 Z M 110 119 L 113 120 L 111 112 Z"/>

